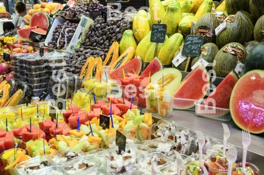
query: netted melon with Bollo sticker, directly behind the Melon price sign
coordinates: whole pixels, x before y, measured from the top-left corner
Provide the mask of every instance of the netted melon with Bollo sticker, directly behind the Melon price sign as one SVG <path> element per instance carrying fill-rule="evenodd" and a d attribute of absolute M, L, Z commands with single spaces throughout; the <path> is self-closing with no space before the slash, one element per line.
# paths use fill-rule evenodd
<path fill-rule="evenodd" d="M 195 35 L 202 35 L 203 43 L 216 43 L 216 27 L 219 21 L 213 13 L 205 13 L 195 24 Z"/>

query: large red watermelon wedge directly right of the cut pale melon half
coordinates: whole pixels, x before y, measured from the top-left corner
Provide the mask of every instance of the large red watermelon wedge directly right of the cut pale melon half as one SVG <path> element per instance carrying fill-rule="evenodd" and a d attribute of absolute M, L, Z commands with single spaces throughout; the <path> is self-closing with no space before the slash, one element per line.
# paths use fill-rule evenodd
<path fill-rule="evenodd" d="M 210 85 L 210 78 L 205 67 L 200 64 L 190 72 L 175 90 L 175 98 L 186 99 L 184 103 L 174 101 L 175 109 L 189 109 L 195 105 L 193 100 L 204 98 Z"/>

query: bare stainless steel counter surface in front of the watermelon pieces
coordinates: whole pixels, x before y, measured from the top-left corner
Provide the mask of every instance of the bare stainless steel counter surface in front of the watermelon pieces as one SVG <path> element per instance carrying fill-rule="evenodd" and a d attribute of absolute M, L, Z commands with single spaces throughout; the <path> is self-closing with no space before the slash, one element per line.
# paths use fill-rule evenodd
<path fill-rule="evenodd" d="M 143 109 L 142 112 L 148 112 Z M 200 130 L 204 135 L 212 140 L 223 141 L 223 127 L 221 123 L 228 125 L 230 130 L 230 138 L 227 144 L 236 146 L 238 153 L 238 162 L 242 162 L 243 145 L 242 145 L 242 129 L 240 129 L 232 120 L 223 122 L 214 119 L 198 117 L 195 111 L 174 110 L 172 117 L 160 117 L 158 113 L 153 113 L 154 122 L 162 119 L 176 125 L 180 125 L 190 130 Z M 251 144 L 247 151 L 247 162 L 255 164 L 264 175 L 264 134 L 251 134 Z"/>

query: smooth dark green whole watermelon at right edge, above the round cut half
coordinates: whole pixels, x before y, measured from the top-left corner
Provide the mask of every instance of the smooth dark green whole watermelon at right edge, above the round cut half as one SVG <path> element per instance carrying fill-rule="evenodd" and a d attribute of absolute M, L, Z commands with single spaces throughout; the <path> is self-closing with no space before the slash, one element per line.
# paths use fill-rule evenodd
<path fill-rule="evenodd" d="M 263 49 L 264 49 L 264 42 L 258 44 L 252 50 L 250 50 L 250 52 L 248 53 L 245 59 L 242 75 L 255 69 L 264 70 Z"/>

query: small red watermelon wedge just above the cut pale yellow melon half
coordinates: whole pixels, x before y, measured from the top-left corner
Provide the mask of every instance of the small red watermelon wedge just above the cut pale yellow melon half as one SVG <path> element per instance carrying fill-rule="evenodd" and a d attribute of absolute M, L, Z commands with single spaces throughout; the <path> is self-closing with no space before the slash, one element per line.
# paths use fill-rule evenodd
<path fill-rule="evenodd" d="M 150 64 L 146 67 L 146 69 L 142 72 L 140 75 L 142 78 L 149 77 L 150 73 L 151 76 L 155 74 L 156 72 L 163 69 L 161 61 L 158 59 L 158 57 L 155 57 Z"/>

